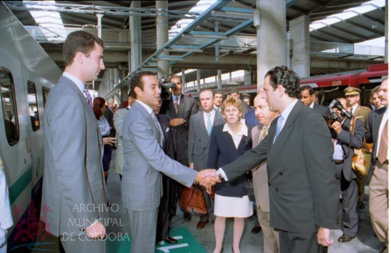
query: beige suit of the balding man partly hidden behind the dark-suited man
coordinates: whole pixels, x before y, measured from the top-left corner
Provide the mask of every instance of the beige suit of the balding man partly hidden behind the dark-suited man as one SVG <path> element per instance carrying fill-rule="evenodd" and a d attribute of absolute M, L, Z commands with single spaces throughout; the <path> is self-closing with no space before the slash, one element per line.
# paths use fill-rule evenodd
<path fill-rule="evenodd" d="M 261 142 L 264 127 L 258 125 L 251 131 L 253 139 L 253 148 Z M 255 201 L 257 203 L 258 221 L 263 231 L 263 245 L 265 253 L 277 253 L 280 245 L 278 231 L 270 228 L 270 204 L 269 204 L 269 186 L 266 162 L 253 169 L 253 185 Z"/>

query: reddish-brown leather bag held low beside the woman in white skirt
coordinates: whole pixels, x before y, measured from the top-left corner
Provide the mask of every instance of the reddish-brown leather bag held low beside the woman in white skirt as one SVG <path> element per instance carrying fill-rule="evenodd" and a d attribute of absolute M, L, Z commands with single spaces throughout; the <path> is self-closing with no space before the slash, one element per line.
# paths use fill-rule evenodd
<path fill-rule="evenodd" d="M 204 191 L 194 185 L 190 188 L 185 187 L 179 198 L 179 206 L 183 211 L 193 215 L 204 215 L 208 213 L 205 204 Z"/>

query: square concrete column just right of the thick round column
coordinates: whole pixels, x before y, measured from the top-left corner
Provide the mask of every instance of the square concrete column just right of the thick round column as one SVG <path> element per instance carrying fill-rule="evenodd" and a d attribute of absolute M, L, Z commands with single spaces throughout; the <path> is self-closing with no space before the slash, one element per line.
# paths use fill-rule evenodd
<path fill-rule="evenodd" d="M 303 15 L 289 21 L 292 40 L 292 70 L 299 77 L 310 76 L 310 16 Z"/>

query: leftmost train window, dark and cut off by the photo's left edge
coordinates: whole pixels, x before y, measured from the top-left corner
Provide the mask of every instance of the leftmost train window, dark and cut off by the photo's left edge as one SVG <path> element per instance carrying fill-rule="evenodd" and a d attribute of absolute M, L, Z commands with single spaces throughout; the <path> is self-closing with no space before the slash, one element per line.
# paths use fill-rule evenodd
<path fill-rule="evenodd" d="M 6 136 L 8 143 L 12 146 L 19 141 L 19 122 L 15 103 L 15 87 L 11 72 L 1 67 L 0 88 Z"/>

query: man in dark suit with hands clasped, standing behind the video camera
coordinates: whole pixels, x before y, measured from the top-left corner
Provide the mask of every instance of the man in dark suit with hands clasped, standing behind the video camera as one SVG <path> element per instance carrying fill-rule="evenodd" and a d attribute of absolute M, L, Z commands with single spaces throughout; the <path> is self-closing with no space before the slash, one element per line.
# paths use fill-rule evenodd
<path fill-rule="evenodd" d="M 174 132 L 176 160 L 184 166 L 188 165 L 187 146 L 189 138 L 190 116 L 198 112 L 197 102 L 191 97 L 182 94 L 182 81 L 179 76 L 171 77 L 171 82 L 176 88 L 172 91 L 171 100 L 164 100 L 160 113 L 170 119 L 170 127 Z M 182 193 L 183 186 L 177 184 L 178 198 Z M 191 214 L 183 214 L 185 220 L 191 219 Z"/>

